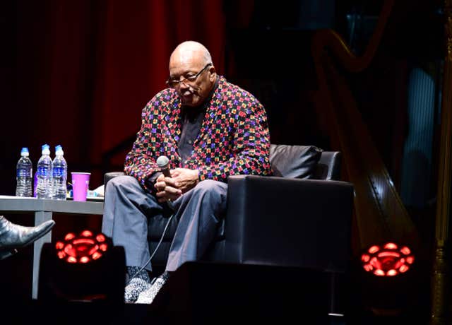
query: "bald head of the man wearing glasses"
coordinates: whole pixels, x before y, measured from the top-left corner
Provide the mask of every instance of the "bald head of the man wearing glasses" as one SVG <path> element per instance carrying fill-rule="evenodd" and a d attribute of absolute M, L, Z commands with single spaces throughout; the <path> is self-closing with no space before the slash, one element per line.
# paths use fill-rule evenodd
<path fill-rule="evenodd" d="M 212 57 L 204 45 L 186 41 L 177 45 L 169 57 L 169 79 L 182 105 L 195 107 L 208 99 L 216 81 Z"/>

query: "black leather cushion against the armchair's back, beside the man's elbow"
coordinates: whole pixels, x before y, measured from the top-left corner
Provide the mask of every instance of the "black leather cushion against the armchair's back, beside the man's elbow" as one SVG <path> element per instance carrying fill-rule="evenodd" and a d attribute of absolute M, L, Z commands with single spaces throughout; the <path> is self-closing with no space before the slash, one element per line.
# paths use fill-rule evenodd
<path fill-rule="evenodd" d="M 287 178 L 309 179 L 314 176 L 322 150 L 316 146 L 270 146 L 273 175 Z"/>

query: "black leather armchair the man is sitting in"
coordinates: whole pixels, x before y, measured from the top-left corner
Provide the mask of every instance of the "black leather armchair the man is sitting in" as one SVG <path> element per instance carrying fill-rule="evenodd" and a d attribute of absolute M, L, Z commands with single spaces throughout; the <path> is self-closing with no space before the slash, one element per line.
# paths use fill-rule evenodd
<path fill-rule="evenodd" d="M 271 145 L 275 175 L 228 179 L 227 213 L 206 261 L 299 266 L 345 272 L 350 261 L 353 188 L 339 181 L 340 152 Z M 105 184 L 122 172 L 105 174 Z M 151 218 L 154 252 L 168 218 Z M 171 220 L 153 266 L 164 266 L 177 227 Z"/>

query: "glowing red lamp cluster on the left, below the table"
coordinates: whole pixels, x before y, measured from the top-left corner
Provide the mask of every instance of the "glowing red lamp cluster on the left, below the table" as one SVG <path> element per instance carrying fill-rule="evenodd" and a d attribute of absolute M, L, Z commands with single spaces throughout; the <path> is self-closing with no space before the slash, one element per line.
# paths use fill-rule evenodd
<path fill-rule="evenodd" d="M 105 235 L 93 235 L 90 230 L 83 230 L 78 236 L 69 232 L 64 237 L 64 242 L 57 242 L 55 248 L 59 259 L 65 259 L 71 264 L 86 264 L 99 259 L 102 254 L 107 252 L 109 245 L 106 242 Z"/>

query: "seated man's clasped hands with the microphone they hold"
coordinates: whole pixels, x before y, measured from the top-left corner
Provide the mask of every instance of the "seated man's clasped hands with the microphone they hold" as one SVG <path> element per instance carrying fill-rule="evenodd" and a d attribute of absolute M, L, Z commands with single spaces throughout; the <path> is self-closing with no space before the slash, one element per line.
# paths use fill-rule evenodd
<path fill-rule="evenodd" d="M 169 159 L 162 155 L 157 159 L 162 175 L 155 181 L 157 199 L 159 202 L 174 201 L 189 189 L 193 189 L 199 182 L 198 170 L 176 168 L 169 170 Z"/>

